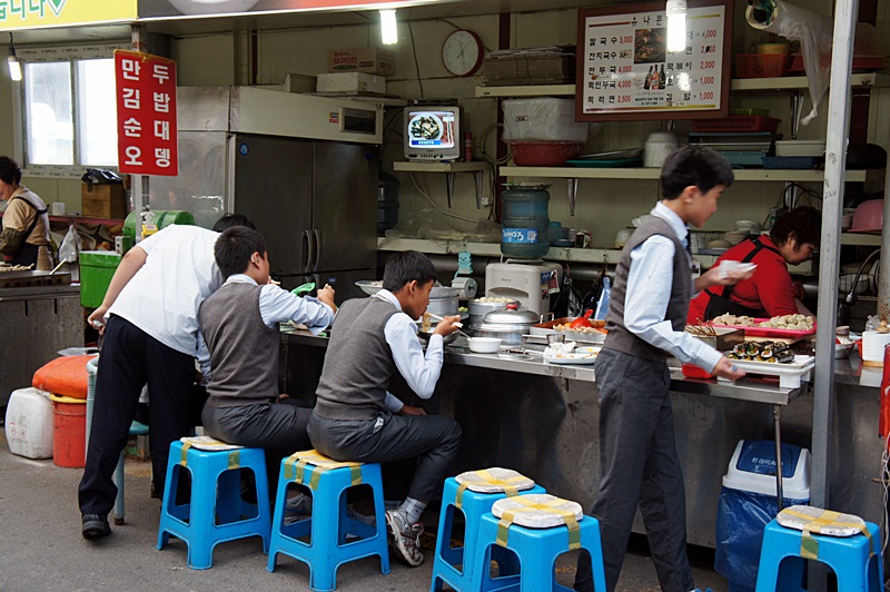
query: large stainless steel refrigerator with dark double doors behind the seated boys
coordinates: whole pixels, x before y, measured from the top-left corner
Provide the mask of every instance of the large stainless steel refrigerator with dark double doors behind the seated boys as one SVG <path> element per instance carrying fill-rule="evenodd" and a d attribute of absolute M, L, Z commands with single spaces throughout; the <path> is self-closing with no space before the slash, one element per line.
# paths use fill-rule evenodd
<path fill-rule="evenodd" d="M 355 282 L 376 277 L 383 107 L 248 87 L 177 93 L 179 175 L 150 177 L 151 207 L 189 209 L 208 228 L 245 214 L 283 287 L 363 295 Z"/>

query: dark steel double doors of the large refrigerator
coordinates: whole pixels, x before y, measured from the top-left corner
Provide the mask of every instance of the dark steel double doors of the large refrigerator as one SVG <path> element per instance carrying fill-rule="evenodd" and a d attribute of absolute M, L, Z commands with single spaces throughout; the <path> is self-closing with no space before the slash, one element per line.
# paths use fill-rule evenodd
<path fill-rule="evenodd" d="M 377 266 L 377 150 L 296 138 L 236 135 L 235 211 L 266 238 L 274 278 L 290 289 L 330 284 L 337 302 Z"/>

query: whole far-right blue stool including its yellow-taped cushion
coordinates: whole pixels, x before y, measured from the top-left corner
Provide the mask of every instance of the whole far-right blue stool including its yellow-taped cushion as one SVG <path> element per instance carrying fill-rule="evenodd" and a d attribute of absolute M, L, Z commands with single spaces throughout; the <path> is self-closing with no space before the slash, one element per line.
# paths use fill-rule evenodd
<path fill-rule="evenodd" d="M 808 505 L 782 510 L 767 524 L 756 592 L 803 592 L 807 561 L 834 570 L 838 590 L 883 590 L 880 530 L 851 514 Z"/>

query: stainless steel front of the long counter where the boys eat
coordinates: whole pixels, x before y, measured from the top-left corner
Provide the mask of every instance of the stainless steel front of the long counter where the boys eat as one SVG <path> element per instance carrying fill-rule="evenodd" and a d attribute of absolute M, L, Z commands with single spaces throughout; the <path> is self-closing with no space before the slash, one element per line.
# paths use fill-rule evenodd
<path fill-rule="evenodd" d="M 327 339 L 283 335 L 285 392 L 314 402 Z M 523 346 L 527 349 L 543 347 Z M 679 366 L 679 364 L 676 364 Z M 860 368 L 858 358 L 838 361 L 832 430 L 832 510 L 881 519 L 881 442 L 877 437 L 880 371 Z M 869 386 L 876 379 L 873 386 Z M 686 487 L 688 535 L 714 546 L 721 477 L 739 440 L 770 440 L 781 408 L 782 438 L 810 447 L 813 397 L 805 384 L 780 388 L 745 378 L 736 384 L 696 381 L 672 371 L 671 399 L 676 447 Z M 429 401 L 390 385 L 404 401 L 428 413 L 454 417 L 464 431 L 454 472 L 506 466 L 530 475 L 547 491 L 590 509 L 600 481 L 599 391 L 593 366 L 555 365 L 542 356 L 503 359 L 474 354 L 458 338 L 445 348 L 445 366 Z M 637 516 L 635 530 L 642 531 Z"/>

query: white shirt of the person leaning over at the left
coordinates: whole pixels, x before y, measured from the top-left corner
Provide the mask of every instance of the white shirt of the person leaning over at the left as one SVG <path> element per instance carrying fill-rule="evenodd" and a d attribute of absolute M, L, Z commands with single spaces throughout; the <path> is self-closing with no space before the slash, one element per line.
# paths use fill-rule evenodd
<path fill-rule="evenodd" d="M 199 226 L 168 226 L 134 248 L 147 254 L 108 310 L 164 345 L 195 356 L 205 375 L 210 355 L 198 336 L 198 308 L 222 285 L 214 260 L 219 233 Z"/>

